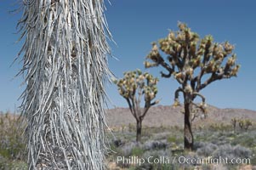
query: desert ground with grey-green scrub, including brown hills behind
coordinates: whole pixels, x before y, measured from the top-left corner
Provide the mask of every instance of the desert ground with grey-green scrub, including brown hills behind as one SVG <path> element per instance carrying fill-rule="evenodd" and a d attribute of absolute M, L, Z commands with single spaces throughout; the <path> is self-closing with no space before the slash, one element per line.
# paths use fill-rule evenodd
<path fill-rule="evenodd" d="M 108 110 L 107 169 L 256 169 L 256 111 L 208 105 L 207 116 L 198 116 L 192 122 L 195 147 L 190 151 L 183 147 L 183 117 L 182 106 L 152 107 L 142 122 L 142 140 L 136 143 L 135 119 L 128 108 Z M 26 144 L 17 116 L 2 113 L 0 118 L 0 169 L 26 169 Z M 249 120 L 252 125 L 245 129 L 236 123 L 234 128 L 232 118 Z M 227 163 L 199 162 L 219 156 Z M 191 162 L 193 159 L 197 162 Z M 230 162 L 232 159 L 239 162 Z"/>

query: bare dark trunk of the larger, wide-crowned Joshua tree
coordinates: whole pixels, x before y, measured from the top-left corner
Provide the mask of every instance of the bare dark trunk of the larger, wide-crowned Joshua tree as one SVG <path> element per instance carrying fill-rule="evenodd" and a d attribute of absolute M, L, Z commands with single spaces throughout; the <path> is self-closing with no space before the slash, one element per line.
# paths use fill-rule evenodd
<path fill-rule="evenodd" d="M 184 116 L 184 147 L 186 150 L 192 150 L 193 148 L 193 134 L 191 131 L 191 110 L 190 110 L 190 102 L 185 101 L 185 116 Z"/>

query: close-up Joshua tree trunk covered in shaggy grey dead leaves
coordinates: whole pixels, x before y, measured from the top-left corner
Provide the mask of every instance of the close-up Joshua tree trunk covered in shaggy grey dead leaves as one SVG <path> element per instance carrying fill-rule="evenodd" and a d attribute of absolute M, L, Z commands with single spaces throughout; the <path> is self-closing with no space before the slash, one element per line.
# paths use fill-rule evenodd
<path fill-rule="evenodd" d="M 110 75 L 104 1 L 23 2 L 21 111 L 29 169 L 103 169 Z"/>

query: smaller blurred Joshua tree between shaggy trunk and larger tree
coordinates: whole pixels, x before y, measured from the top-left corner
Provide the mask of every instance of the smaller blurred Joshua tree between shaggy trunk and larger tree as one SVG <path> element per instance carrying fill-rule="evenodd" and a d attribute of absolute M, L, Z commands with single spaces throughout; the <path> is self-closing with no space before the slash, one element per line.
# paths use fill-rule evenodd
<path fill-rule="evenodd" d="M 117 84 L 119 94 L 127 100 L 129 109 L 136 119 L 136 141 L 141 139 L 141 123 L 150 107 L 159 103 L 159 100 L 152 102 L 156 98 L 158 79 L 140 70 L 125 72 L 124 77 L 114 81 Z M 140 108 L 140 102 L 144 95 L 145 105 Z"/>

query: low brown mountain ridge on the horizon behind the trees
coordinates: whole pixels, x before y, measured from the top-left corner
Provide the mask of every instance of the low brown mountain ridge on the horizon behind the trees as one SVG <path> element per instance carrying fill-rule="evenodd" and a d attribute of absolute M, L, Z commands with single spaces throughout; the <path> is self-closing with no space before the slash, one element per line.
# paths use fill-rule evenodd
<path fill-rule="evenodd" d="M 145 116 L 143 125 L 149 127 L 164 126 L 183 126 L 184 116 L 181 113 L 182 106 L 173 108 L 169 105 L 157 105 L 151 107 L 147 115 Z M 212 105 L 208 105 L 208 116 L 205 119 L 196 118 L 195 125 L 197 124 L 212 124 L 212 123 L 229 123 L 233 117 L 247 118 L 253 122 L 256 122 L 256 111 L 250 111 L 246 109 L 219 109 Z M 129 123 L 135 123 L 134 116 L 132 116 L 128 108 L 115 108 L 108 110 L 106 113 L 106 119 L 110 127 L 119 127 L 122 125 L 128 125 Z"/>

